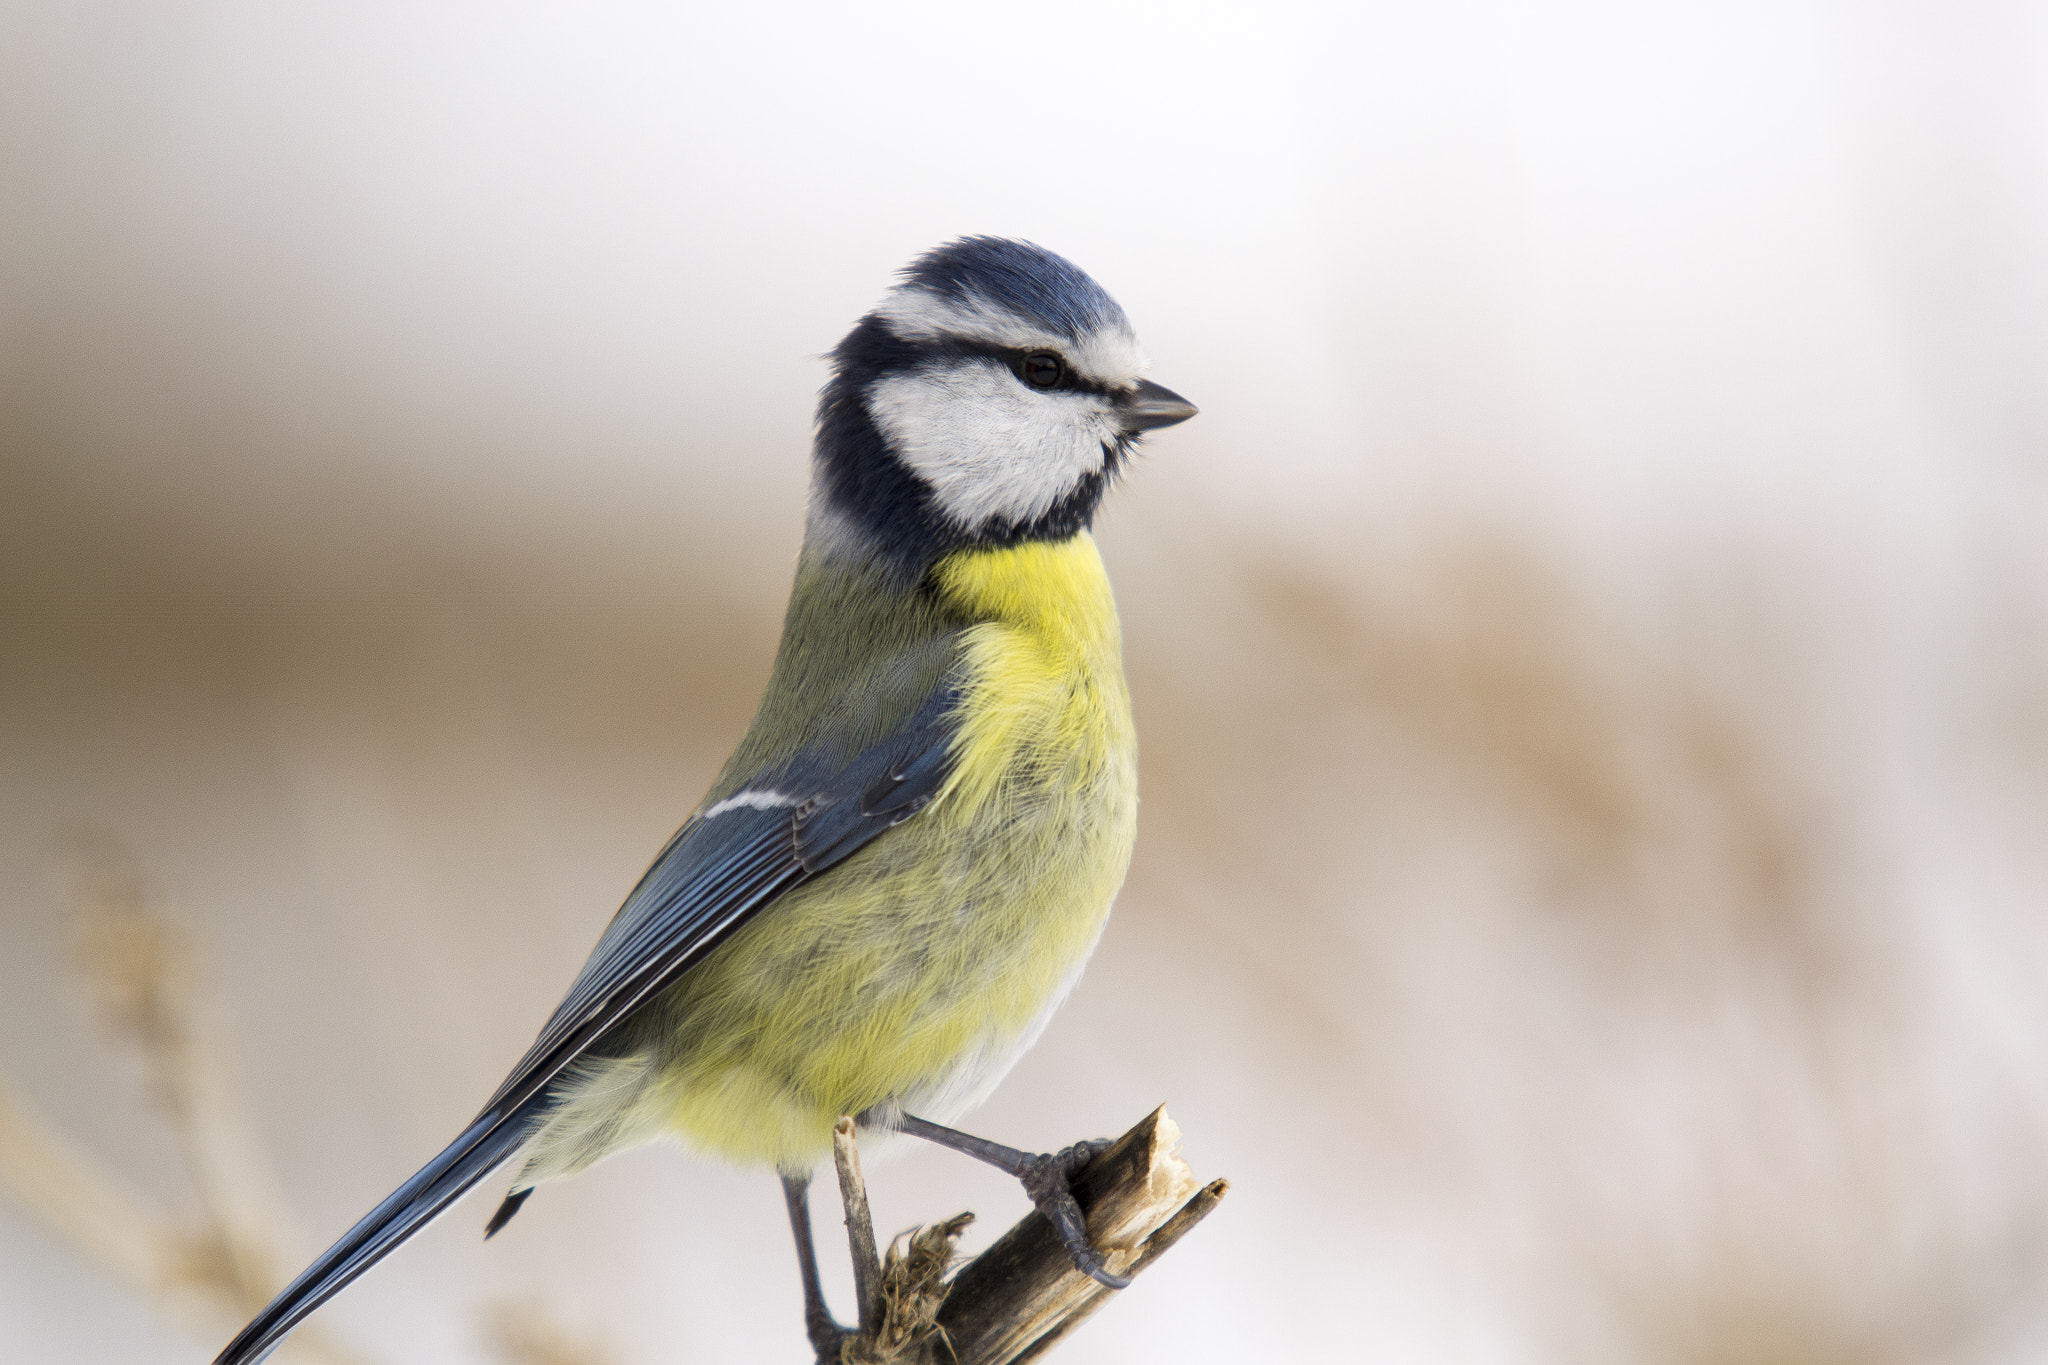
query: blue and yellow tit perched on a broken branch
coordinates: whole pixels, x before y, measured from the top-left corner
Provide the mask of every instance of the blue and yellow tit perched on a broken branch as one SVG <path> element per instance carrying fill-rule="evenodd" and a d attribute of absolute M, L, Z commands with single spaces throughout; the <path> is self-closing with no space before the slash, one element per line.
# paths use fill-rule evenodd
<path fill-rule="evenodd" d="M 219 1353 L 254 1365 L 494 1175 L 485 1238 L 541 1185 L 662 1138 L 778 1173 L 805 1332 L 807 1189 L 842 1115 L 1018 1177 L 1110 1287 L 1069 1177 L 950 1128 L 1036 1042 L 1094 952 L 1137 833 L 1137 735 L 1092 524 L 1153 430 L 1079 266 L 969 235 L 911 260 L 829 352 L 803 546 L 760 708 L 498 1093 Z"/>

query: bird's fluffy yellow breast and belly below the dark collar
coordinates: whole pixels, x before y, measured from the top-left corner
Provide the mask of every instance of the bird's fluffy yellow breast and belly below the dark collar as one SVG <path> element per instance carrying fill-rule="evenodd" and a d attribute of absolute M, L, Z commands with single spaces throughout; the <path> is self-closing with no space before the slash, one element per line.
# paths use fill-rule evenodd
<path fill-rule="evenodd" d="M 913 821 L 809 882 L 666 1001 L 666 1124 L 741 1162 L 811 1166 L 881 1103 L 977 1103 L 1071 986 L 1122 884 L 1137 741 L 1087 534 L 944 561 L 979 624 L 956 772 Z"/>

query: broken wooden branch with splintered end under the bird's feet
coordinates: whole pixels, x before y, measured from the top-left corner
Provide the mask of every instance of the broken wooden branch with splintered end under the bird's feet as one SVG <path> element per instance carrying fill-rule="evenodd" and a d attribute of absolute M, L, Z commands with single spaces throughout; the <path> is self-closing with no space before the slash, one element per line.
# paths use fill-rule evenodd
<path fill-rule="evenodd" d="M 844 1134 L 844 1136 L 842 1136 Z M 1073 1179 L 1073 1197 L 1087 1216 L 1087 1238 L 1110 1269 L 1141 1275 L 1229 1191 L 1227 1181 L 1198 1187 L 1176 1146 L 1180 1128 L 1165 1109 L 1153 1109 Z M 852 1124 L 840 1121 L 834 1154 L 852 1152 Z M 852 1162 L 858 1181 L 858 1160 Z M 852 1228 L 854 1191 L 866 1220 L 866 1191 L 846 1181 L 840 1193 Z M 848 1338 L 842 1365 L 1018 1365 L 1036 1361 L 1067 1332 L 1102 1308 L 1106 1289 L 1081 1271 L 1053 1226 L 1034 1209 L 993 1246 L 946 1279 L 952 1246 L 973 1214 L 920 1228 L 889 1246 L 881 1271 L 879 1326 Z M 868 1257 L 874 1242 L 868 1240 Z M 856 1248 L 856 1267 L 858 1267 Z"/>

